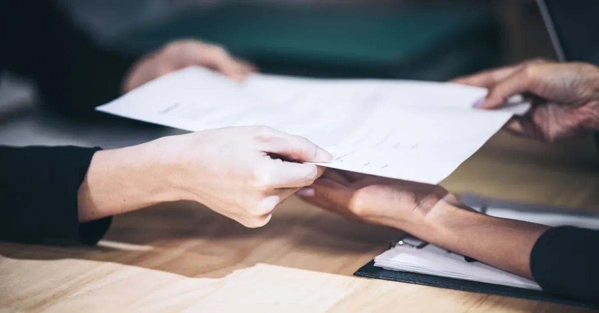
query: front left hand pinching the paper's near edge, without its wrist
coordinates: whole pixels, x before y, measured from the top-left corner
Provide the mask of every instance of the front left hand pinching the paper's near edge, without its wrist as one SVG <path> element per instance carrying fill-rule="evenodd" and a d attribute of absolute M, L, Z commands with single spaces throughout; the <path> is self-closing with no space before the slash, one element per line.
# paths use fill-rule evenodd
<path fill-rule="evenodd" d="M 276 153 L 301 162 L 331 156 L 305 138 L 270 127 L 229 127 L 171 138 L 159 146 L 164 163 L 174 163 L 171 184 L 181 199 L 193 200 L 247 227 L 264 226 L 275 206 L 309 186 L 323 168 L 272 159 Z"/>

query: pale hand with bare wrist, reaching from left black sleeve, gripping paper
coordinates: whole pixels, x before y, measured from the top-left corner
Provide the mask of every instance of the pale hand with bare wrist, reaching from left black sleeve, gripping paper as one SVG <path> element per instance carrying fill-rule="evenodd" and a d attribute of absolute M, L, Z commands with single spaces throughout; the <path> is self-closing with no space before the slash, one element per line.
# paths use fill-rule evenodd
<path fill-rule="evenodd" d="M 299 162 L 331 159 L 307 139 L 269 127 L 205 130 L 98 151 L 80 187 L 80 220 L 193 200 L 244 226 L 264 226 L 276 205 L 323 172 Z"/>

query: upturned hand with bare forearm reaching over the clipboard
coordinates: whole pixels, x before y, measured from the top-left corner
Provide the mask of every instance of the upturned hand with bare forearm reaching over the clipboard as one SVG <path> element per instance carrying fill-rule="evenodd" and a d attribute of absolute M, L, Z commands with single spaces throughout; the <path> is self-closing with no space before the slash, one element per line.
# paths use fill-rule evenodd
<path fill-rule="evenodd" d="M 548 228 L 480 214 L 442 187 L 331 169 L 298 195 L 329 211 L 404 230 L 529 278 L 531 251 Z"/>

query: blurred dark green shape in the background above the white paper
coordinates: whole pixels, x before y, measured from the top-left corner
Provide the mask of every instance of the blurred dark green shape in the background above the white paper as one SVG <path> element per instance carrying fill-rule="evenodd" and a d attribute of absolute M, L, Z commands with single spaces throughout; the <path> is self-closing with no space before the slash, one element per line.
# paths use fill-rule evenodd
<path fill-rule="evenodd" d="M 279 74 L 446 80 L 497 65 L 500 36 L 485 5 L 225 3 L 176 14 L 125 40 L 141 50 L 202 38 Z"/>

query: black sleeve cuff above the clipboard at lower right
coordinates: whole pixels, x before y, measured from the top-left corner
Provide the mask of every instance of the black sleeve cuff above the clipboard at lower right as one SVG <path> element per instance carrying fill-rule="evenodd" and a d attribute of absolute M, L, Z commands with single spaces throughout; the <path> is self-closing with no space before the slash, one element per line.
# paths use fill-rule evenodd
<path fill-rule="evenodd" d="M 553 227 L 531 252 L 531 272 L 544 291 L 599 303 L 599 231 Z"/>

